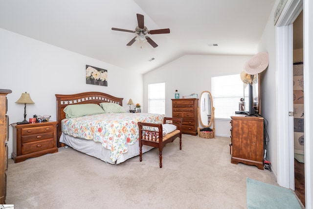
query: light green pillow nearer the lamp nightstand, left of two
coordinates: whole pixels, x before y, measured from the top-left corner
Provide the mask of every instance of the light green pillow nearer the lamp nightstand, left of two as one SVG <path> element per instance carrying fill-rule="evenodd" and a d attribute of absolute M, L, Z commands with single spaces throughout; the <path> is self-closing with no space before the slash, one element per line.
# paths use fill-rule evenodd
<path fill-rule="evenodd" d="M 75 104 L 67 105 L 64 110 L 66 118 L 90 116 L 105 113 L 97 104 Z"/>

